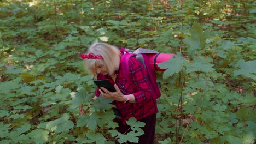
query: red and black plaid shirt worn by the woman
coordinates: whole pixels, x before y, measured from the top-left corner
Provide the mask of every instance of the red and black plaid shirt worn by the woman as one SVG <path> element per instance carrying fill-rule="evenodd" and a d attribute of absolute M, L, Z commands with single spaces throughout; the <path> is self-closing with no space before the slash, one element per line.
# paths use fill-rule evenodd
<path fill-rule="evenodd" d="M 125 121 L 131 117 L 135 117 L 137 120 L 142 119 L 148 115 L 158 112 L 156 100 L 153 98 L 151 89 L 152 86 L 149 83 L 147 71 L 144 69 L 141 62 L 137 61 L 135 57 L 129 59 L 129 79 L 132 79 L 133 83 L 128 82 L 121 71 L 122 65 L 120 65 L 117 71 L 117 79 L 115 83 L 119 87 L 120 91 L 124 94 L 133 94 L 135 96 L 136 103 L 124 103 L 120 101 L 113 101 L 112 104 L 117 107 L 117 110 L 121 114 L 121 120 L 125 124 Z M 127 76 L 126 76 L 127 77 Z M 114 85 L 114 81 L 108 75 L 98 74 L 97 79 L 109 79 Z M 100 95 L 100 92 L 95 93 L 96 96 Z"/>

